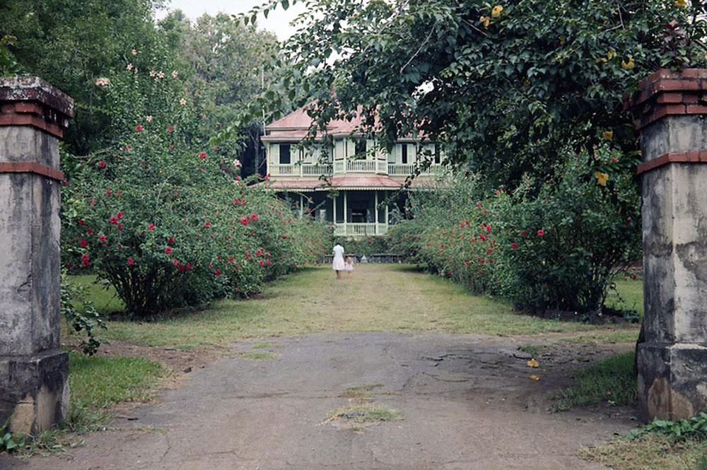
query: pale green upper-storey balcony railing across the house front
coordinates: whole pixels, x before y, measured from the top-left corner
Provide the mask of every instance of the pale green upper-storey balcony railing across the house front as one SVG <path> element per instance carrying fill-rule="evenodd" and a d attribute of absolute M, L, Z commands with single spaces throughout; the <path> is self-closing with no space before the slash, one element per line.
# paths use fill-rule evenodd
<path fill-rule="evenodd" d="M 320 163 L 269 163 L 268 172 L 271 176 L 290 177 L 320 177 L 321 175 L 344 175 L 346 173 L 361 173 L 373 175 L 410 176 L 415 171 L 412 163 L 388 163 L 386 160 L 334 160 L 332 165 Z M 441 175 L 443 165 L 431 165 L 420 175 Z"/>

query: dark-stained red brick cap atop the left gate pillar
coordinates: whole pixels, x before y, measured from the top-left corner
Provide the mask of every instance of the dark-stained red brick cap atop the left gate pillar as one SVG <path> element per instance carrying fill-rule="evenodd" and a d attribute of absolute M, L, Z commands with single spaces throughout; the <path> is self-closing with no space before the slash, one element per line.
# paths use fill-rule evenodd
<path fill-rule="evenodd" d="M 0 126 L 30 126 L 61 139 L 74 101 L 35 76 L 0 78 Z"/>

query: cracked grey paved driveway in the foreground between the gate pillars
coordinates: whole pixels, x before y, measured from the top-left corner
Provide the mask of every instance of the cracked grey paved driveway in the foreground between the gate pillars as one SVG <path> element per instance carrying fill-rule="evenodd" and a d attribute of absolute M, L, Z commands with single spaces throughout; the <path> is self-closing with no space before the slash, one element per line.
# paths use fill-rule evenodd
<path fill-rule="evenodd" d="M 225 358 L 160 403 L 127 413 L 136 419 L 117 420 L 119 432 L 84 436 L 86 446 L 61 457 L 0 459 L 0 468 L 599 470 L 575 452 L 633 423 L 621 413 L 547 413 L 548 382 L 566 381 L 580 365 L 547 357 L 530 369 L 527 358 L 513 357 L 520 353 L 511 339 L 361 333 L 271 341 L 269 350 L 238 348 L 272 351 L 273 360 Z M 375 404 L 402 419 L 362 430 L 327 422 L 349 404 L 339 394 L 364 384 L 382 384 Z"/>

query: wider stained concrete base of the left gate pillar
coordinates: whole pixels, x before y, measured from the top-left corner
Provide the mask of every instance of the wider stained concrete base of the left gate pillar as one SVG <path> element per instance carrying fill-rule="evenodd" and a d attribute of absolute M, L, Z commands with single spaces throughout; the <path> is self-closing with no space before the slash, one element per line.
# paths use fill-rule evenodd
<path fill-rule="evenodd" d="M 13 432 L 37 435 L 65 421 L 68 412 L 67 353 L 0 357 L 0 416 L 11 416 Z"/>

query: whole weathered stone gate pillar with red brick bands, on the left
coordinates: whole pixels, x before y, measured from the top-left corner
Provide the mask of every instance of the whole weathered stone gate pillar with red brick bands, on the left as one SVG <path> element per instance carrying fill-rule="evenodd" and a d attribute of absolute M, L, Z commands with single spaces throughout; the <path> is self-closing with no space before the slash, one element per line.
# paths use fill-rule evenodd
<path fill-rule="evenodd" d="M 42 79 L 0 78 L 0 424 L 37 434 L 66 417 L 59 349 L 59 138 L 73 100 Z"/>

